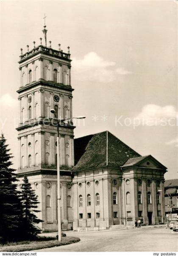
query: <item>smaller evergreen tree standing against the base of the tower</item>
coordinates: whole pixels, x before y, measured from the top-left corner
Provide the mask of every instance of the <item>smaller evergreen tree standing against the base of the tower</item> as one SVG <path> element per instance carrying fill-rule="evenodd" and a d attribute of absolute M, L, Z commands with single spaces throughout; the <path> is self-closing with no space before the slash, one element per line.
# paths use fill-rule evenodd
<path fill-rule="evenodd" d="M 35 191 L 31 188 L 31 184 L 28 182 L 28 178 L 25 176 L 22 184 L 21 191 L 21 202 L 23 209 L 23 227 L 26 239 L 35 238 L 40 232 L 35 224 L 42 222 L 38 219 L 35 213 L 40 212 L 36 210 L 38 208 L 38 196 L 36 196 Z"/>

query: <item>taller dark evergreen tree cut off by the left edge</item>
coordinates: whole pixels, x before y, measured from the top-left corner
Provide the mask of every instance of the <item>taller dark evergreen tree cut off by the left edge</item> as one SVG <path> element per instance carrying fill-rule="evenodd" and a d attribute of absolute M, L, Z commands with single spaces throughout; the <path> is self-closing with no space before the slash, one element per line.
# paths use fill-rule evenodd
<path fill-rule="evenodd" d="M 0 241 L 20 239 L 22 208 L 17 191 L 13 158 L 3 134 L 0 137 Z"/>

